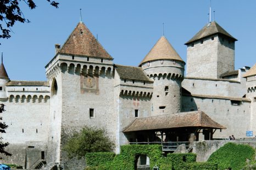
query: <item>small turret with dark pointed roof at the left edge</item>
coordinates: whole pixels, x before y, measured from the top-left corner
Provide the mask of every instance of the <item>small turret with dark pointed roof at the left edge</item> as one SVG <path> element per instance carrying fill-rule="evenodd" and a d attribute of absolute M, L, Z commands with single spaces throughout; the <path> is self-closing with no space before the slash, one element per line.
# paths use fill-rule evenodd
<path fill-rule="evenodd" d="M 2 62 L 0 65 L 0 99 L 7 98 L 6 83 L 8 83 L 9 80 L 10 79 L 3 65 L 3 53 L 2 53 Z"/>

